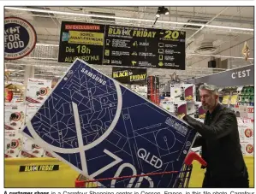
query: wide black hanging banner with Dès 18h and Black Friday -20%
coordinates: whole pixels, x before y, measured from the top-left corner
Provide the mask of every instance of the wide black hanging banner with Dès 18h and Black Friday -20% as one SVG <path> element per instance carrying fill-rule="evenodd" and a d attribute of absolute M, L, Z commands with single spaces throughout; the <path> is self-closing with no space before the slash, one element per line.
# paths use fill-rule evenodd
<path fill-rule="evenodd" d="M 185 70 L 186 32 L 63 21 L 58 62 Z"/>

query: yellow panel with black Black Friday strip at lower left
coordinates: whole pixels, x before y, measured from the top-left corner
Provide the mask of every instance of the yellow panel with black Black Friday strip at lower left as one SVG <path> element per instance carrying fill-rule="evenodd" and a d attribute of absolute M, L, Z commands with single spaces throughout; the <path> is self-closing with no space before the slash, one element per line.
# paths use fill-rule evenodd
<path fill-rule="evenodd" d="M 56 158 L 8 158 L 4 160 L 5 187 L 73 187 L 79 173 Z"/>

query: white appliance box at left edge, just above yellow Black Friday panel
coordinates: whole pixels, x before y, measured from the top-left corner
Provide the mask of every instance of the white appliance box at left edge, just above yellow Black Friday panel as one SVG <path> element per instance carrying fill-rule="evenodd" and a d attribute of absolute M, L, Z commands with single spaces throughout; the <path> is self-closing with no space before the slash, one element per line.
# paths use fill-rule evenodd
<path fill-rule="evenodd" d="M 22 138 L 20 132 L 4 132 L 4 157 L 21 157 Z"/>

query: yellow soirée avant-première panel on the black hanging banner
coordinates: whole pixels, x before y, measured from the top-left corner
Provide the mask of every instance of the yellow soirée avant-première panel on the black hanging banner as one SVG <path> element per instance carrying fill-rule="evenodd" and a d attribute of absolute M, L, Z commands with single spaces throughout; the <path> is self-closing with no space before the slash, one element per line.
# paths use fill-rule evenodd
<path fill-rule="evenodd" d="M 68 43 L 102 46 L 104 44 L 104 33 L 69 31 Z"/>

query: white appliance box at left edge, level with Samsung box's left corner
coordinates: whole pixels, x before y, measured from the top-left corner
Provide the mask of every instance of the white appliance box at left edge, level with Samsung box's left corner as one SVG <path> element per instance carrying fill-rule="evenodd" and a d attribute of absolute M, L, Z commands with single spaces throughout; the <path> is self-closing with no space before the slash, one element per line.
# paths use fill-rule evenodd
<path fill-rule="evenodd" d="M 25 103 L 4 103 L 5 131 L 19 132 L 25 123 Z"/>

